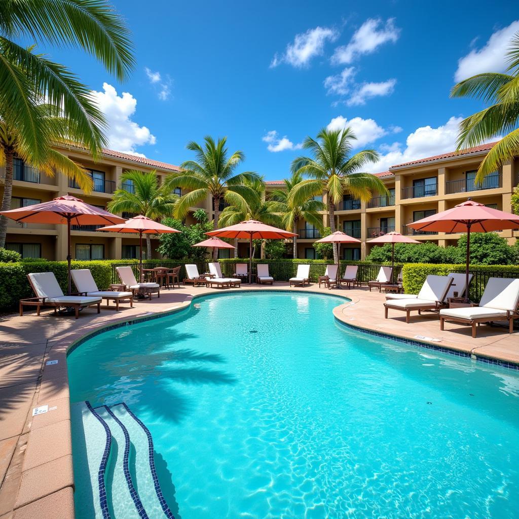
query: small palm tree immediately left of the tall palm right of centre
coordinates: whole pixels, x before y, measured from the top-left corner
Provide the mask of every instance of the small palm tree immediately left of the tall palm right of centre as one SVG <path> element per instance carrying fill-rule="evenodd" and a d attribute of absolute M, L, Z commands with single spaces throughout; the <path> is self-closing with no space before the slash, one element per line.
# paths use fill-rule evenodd
<path fill-rule="evenodd" d="M 292 190 L 300 182 L 303 181 L 303 175 L 299 172 L 292 173 L 290 179 L 284 179 L 285 188 L 275 189 L 271 193 L 271 198 L 277 202 L 274 209 L 281 214 L 281 222 L 286 230 L 297 234 L 297 223 L 299 220 L 304 220 L 309 224 L 321 229 L 323 226 L 322 215 L 319 211 L 324 211 L 326 206 L 323 202 L 315 200 L 314 197 L 309 197 L 301 203 L 294 204 L 291 198 Z M 297 258 L 297 237 L 293 238 L 294 259 Z"/>

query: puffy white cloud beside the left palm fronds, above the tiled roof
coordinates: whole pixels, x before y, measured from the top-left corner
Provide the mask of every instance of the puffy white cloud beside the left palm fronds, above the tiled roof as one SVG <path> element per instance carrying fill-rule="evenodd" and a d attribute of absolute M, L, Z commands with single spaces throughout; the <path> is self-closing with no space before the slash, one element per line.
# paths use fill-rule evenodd
<path fill-rule="evenodd" d="M 135 113 L 137 100 L 129 92 L 117 91 L 112 85 L 103 83 L 103 92 L 92 91 L 99 110 L 104 113 L 108 124 L 106 137 L 108 145 L 119 152 L 140 155 L 135 151 L 136 146 L 155 144 L 155 136 L 145 126 L 139 126 L 131 119 Z"/>

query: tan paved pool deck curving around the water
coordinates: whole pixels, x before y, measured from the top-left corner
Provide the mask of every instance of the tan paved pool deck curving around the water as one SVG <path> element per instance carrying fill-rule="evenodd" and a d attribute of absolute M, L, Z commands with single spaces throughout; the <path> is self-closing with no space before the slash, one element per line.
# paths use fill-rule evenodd
<path fill-rule="evenodd" d="M 276 283 L 275 290 L 289 290 Z M 271 290 L 270 285 L 244 285 L 241 290 Z M 501 327 L 481 326 L 471 338 L 470 327 L 446 323 L 440 331 L 438 316 L 414 314 L 405 323 L 404 312 L 391 311 L 384 319 L 384 294 L 366 288 L 328 290 L 312 284 L 293 288 L 301 292 L 344 295 L 351 299 L 334 309 L 334 316 L 350 326 L 428 343 L 473 359 L 519 364 L 519 335 Z M 187 307 L 193 295 L 236 292 L 182 286 L 162 291 L 160 298 L 85 309 L 79 319 L 28 312 L 0 318 L 0 519 L 69 519 L 74 517 L 74 476 L 70 427 L 69 381 L 66 351 L 81 337 L 117 322 L 139 320 L 152 314 Z M 49 361 L 58 361 L 47 365 Z M 48 412 L 32 416 L 33 409 Z"/>

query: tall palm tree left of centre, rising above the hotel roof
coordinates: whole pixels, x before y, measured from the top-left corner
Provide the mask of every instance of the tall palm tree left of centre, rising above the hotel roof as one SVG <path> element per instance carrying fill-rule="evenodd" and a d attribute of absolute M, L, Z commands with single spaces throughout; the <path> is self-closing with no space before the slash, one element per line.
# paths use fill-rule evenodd
<path fill-rule="evenodd" d="M 236 168 L 243 162 L 243 152 L 236 151 L 228 156 L 226 147 L 227 138 L 214 139 L 210 136 L 204 138 L 204 146 L 196 142 L 189 142 L 187 149 L 195 152 L 196 160 L 187 160 L 182 163 L 183 171 L 170 173 L 166 184 L 173 190 L 176 187 L 189 189 L 175 204 L 174 215 L 181 220 L 189 212 L 189 208 L 196 206 L 208 195 L 213 199 L 214 228 L 218 227 L 220 217 L 220 201 L 225 200 L 229 205 L 246 207 L 245 198 L 254 196 L 251 187 L 245 185 L 245 180 L 257 179 L 252 171 L 235 173 Z M 214 252 L 214 260 L 217 251 Z"/>

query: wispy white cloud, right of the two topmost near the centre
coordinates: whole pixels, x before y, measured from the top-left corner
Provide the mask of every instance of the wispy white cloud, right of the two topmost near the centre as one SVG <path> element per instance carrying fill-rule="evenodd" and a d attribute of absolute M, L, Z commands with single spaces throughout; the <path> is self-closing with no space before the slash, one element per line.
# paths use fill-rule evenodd
<path fill-rule="evenodd" d="M 384 24 L 380 18 L 367 19 L 353 34 L 350 43 L 337 47 L 332 63 L 351 63 L 362 54 L 370 54 L 386 42 L 396 42 L 400 29 L 394 26 L 394 18 Z"/>

